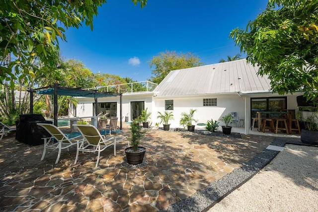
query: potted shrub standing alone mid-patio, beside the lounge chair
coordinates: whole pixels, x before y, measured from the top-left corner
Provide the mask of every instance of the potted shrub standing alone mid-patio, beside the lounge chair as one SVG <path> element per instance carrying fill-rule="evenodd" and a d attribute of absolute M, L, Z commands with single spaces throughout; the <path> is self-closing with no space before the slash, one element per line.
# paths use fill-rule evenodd
<path fill-rule="evenodd" d="M 144 138 L 146 131 L 142 130 L 142 126 L 139 124 L 140 120 L 135 119 L 130 124 L 131 136 L 128 137 L 131 146 L 125 148 L 127 162 L 129 164 L 137 165 L 144 160 L 146 148 L 139 146 L 140 141 Z"/>

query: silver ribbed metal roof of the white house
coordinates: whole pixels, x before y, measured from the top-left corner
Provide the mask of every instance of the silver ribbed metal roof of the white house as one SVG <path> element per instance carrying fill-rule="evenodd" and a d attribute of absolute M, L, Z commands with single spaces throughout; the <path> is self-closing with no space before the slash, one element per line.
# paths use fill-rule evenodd
<path fill-rule="evenodd" d="M 270 80 L 257 71 L 246 59 L 170 71 L 154 92 L 158 96 L 268 92 Z"/>

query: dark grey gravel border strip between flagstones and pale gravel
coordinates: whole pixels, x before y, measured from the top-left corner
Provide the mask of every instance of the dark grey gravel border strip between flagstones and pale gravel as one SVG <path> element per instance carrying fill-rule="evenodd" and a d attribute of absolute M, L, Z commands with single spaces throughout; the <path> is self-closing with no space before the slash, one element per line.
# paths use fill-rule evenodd
<path fill-rule="evenodd" d="M 275 138 L 270 145 L 285 146 L 286 143 L 302 144 L 299 139 Z M 220 202 L 234 190 L 251 179 L 262 168 L 270 163 L 279 151 L 264 149 L 261 153 L 255 155 L 251 160 L 244 163 L 242 167 L 235 169 L 223 178 L 214 181 L 208 187 L 197 191 L 193 196 L 182 200 L 169 208 L 163 210 L 166 212 L 201 212 L 207 211 L 215 204 Z M 317 180 L 317 178 L 316 178 Z M 317 202 L 317 199 L 316 199 Z M 227 210 L 231 211 L 231 210 Z"/>

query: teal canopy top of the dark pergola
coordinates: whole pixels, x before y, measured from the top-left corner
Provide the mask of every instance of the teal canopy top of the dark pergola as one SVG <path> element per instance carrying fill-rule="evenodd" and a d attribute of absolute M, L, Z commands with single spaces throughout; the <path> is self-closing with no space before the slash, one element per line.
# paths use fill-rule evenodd
<path fill-rule="evenodd" d="M 83 89 L 78 89 L 78 88 L 67 88 L 67 87 L 58 87 L 57 90 L 58 90 L 58 96 L 100 98 L 100 97 L 119 96 L 120 95 L 120 93 L 97 92 L 94 90 L 83 90 Z M 35 92 L 38 94 L 54 95 L 54 87 L 46 87 L 46 88 L 41 88 L 39 90 L 35 89 Z"/>

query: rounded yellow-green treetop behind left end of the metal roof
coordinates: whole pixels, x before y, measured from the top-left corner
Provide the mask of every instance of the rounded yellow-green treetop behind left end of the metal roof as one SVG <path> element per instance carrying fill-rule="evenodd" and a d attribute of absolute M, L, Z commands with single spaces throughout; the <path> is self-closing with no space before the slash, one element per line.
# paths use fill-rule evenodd
<path fill-rule="evenodd" d="M 150 81 L 159 84 L 170 71 L 202 65 L 204 64 L 200 62 L 200 59 L 192 53 L 161 52 L 150 61 L 150 68 L 155 67 L 152 70 L 154 76 L 151 76 Z"/>

